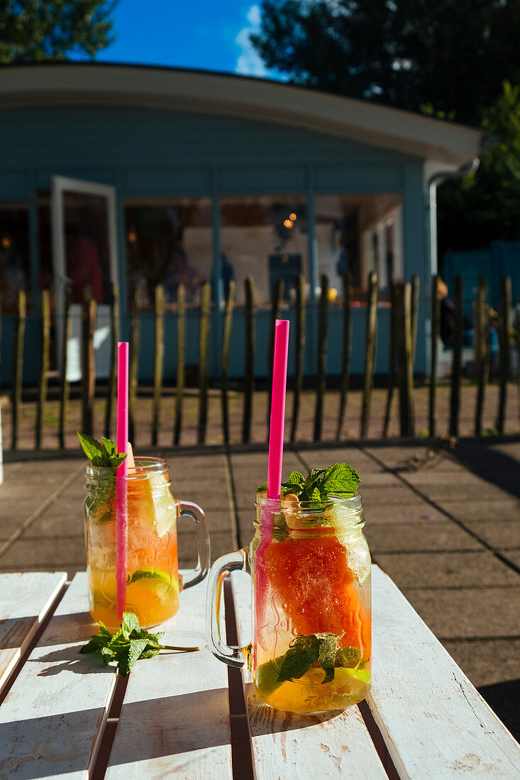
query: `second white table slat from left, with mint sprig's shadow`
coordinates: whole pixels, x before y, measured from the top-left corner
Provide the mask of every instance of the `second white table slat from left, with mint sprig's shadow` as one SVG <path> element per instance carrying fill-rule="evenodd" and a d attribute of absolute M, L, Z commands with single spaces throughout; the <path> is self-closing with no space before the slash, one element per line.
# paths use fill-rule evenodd
<path fill-rule="evenodd" d="M 81 573 L 0 707 L 2 777 L 89 776 L 116 671 L 93 655 L 79 654 L 96 630 L 87 610 L 87 577 Z"/>

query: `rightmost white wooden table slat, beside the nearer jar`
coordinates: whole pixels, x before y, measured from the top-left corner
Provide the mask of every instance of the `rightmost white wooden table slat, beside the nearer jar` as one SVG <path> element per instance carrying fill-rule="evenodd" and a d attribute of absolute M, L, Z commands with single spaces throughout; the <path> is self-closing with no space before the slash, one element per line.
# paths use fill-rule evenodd
<path fill-rule="evenodd" d="M 520 777 L 520 746 L 397 586 L 372 567 L 369 707 L 401 778 Z"/>

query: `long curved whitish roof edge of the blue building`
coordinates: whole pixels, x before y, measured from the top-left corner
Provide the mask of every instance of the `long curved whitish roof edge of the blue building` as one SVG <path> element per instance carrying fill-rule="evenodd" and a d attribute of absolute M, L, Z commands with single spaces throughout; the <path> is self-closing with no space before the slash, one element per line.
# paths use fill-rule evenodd
<path fill-rule="evenodd" d="M 0 69 L 0 110 L 37 105 L 131 105 L 297 126 L 458 168 L 483 132 L 398 108 L 221 73 L 81 64 Z"/>

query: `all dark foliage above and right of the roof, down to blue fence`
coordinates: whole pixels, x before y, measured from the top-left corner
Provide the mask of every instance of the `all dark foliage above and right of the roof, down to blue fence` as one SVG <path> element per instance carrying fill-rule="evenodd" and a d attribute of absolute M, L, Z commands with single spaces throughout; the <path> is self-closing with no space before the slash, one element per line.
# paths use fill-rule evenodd
<path fill-rule="evenodd" d="M 293 83 L 483 126 L 437 196 L 439 255 L 520 239 L 520 0 L 263 0 L 251 41 Z"/>

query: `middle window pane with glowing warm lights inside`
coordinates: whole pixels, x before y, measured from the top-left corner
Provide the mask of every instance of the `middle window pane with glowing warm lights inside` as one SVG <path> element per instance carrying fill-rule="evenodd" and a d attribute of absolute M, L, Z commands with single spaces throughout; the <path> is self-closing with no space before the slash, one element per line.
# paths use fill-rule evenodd
<path fill-rule="evenodd" d="M 268 303 L 278 279 L 283 299 L 294 299 L 294 278 L 308 278 L 307 201 L 303 195 L 224 197 L 220 200 L 223 281 L 237 283 L 244 302 L 244 279 L 255 279 L 258 303 Z"/>

